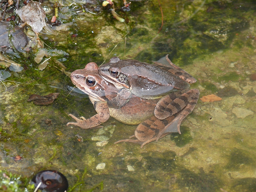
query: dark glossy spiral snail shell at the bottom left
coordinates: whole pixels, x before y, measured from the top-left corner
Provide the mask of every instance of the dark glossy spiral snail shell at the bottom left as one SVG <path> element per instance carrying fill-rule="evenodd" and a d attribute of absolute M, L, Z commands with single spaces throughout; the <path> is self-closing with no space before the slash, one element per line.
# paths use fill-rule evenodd
<path fill-rule="evenodd" d="M 67 178 L 60 172 L 55 170 L 44 170 L 38 172 L 31 180 L 31 183 L 37 187 L 40 183 L 39 189 L 44 189 L 49 192 L 64 192 L 67 191 L 69 184 Z"/>

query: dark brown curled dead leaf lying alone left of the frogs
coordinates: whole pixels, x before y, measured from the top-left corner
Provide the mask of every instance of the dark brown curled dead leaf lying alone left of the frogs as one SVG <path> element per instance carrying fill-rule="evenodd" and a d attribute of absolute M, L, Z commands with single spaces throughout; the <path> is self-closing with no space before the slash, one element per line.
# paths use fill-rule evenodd
<path fill-rule="evenodd" d="M 47 105 L 52 103 L 58 95 L 59 93 L 50 93 L 45 96 L 33 94 L 28 98 L 28 101 L 33 101 L 33 103 L 37 105 Z"/>

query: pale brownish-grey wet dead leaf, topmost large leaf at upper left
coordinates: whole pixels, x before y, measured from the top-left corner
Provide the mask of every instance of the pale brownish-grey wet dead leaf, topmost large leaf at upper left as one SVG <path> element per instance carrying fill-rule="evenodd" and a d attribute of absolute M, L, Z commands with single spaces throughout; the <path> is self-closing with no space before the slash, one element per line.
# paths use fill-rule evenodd
<path fill-rule="evenodd" d="M 17 10 L 16 13 L 22 22 L 26 22 L 35 33 L 39 33 L 46 26 L 45 11 L 40 3 L 36 1 L 30 1 L 27 5 Z"/>

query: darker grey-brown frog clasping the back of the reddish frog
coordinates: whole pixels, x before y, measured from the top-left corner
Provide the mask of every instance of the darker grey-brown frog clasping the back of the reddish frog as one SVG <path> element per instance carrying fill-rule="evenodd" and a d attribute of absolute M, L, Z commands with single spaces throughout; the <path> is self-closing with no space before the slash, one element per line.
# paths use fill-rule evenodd
<path fill-rule="evenodd" d="M 168 66 L 159 62 L 155 62 L 157 66 L 154 66 L 134 59 L 120 60 L 118 57 L 112 57 L 110 62 L 100 66 L 98 71 L 104 79 L 121 89 L 117 97 L 124 92 L 147 99 L 160 97 L 154 110 L 154 115 L 158 119 L 165 119 L 182 111 L 175 119 L 178 121 L 180 133 L 179 125 L 194 109 L 199 98 L 199 90 L 189 90 L 189 83 L 196 82 L 196 79 L 173 64 L 168 55 L 166 61 L 169 63 Z M 166 128 L 159 133 L 158 138 L 170 131 Z"/>

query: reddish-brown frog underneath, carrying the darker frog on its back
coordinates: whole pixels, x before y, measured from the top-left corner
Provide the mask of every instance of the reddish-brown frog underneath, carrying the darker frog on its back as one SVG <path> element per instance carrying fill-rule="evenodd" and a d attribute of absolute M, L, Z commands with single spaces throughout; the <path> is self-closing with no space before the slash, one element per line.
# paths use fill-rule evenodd
<path fill-rule="evenodd" d="M 113 84 L 98 75 L 96 63 L 88 63 L 84 69 L 73 71 L 71 73 L 71 80 L 80 90 L 89 95 L 97 114 L 88 119 L 84 117 L 78 119 L 74 115 L 69 114 L 77 122 L 69 122 L 67 125 L 76 125 L 83 129 L 98 128 L 98 125 L 107 121 L 110 116 L 126 124 L 135 125 L 140 123 L 135 131 L 137 139 L 131 140 L 131 142 L 139 143 L 141 147 L 146 143 L 156 140 L 158 133 L 166 126 L 172 126 L 172 132 L 177 132 L 177 125 L 172 124 L 175 115 L 164 120 L 154 117 L 154 108 L 159 99 L 144 100 L 133 96 L 126 101 L 123 107 L 118 109 L 110 108 L 108 102 L 112 101 L 111 99 L 117 95 L 118 90 Z M 151 125 L 154 126 L 154 129 L 150 129 Z M 167 134 L 169 133 L 164 133 L 161 137 Z M 121 141 L 123 140 L 116 143 Z"/>

